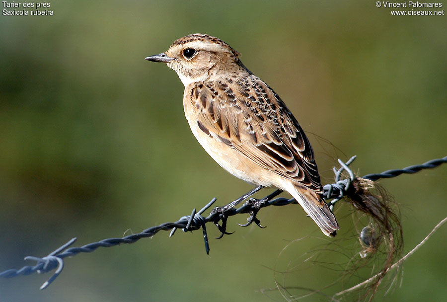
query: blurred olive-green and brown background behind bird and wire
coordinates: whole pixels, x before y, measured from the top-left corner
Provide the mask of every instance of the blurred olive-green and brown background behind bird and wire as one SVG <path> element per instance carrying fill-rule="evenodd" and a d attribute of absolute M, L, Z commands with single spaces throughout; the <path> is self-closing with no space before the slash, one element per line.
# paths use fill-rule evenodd
<path fill-rule="evenodd" d="M 74 236 L 79 246 L 139 232 L 251 188 L 192 136 L 177 75 L 144 61 L 190 33 L 229 43 L 281 95 L 308 132 L 323 183 L 338 157 L 358 155 L 364 175 L 447 153 L 446 16 L 391 16 L 374 1 L 50 3 L 54 16 L 0 16 L 0 271 Z M 446 216 L 446 179 L 442 166 L 381 181 L 401 204 L 405 252 Z M 337 210 L 340 238 L 353 228 L 349 212 Z M 0 279 L 0 301 L 284 301 L 260 291 L 313 243 L 281 250 L 323 235 L 295 205 L 258 217 L 267 228 L 241 228 L 246 217 L 234 217 L 236 232 L 221 240 L 210 225 L 209 256 L 200 231 L 163 231 L 66 259 L 45 291 L 51 274 Z M 446 234 L 406 261 L 384 301 L 445 299 Z M 355 238 L 342 242 L 359 249 Z M 334 272 L 287 278 L 321 288 Z"/>

